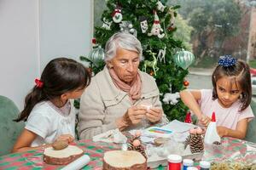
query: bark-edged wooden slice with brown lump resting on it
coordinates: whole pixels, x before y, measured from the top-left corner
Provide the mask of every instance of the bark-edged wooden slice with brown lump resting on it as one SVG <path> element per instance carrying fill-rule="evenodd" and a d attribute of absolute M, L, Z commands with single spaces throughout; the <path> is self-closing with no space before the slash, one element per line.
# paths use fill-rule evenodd
<path fill-rule="evenodd" d="M 74 145 L 68 145 L 63 150 L 55 150 L 53 147 L 44 150 L 44 162 L 55 165 L 67 165 L 84 155 L 84 151 Z"/>

